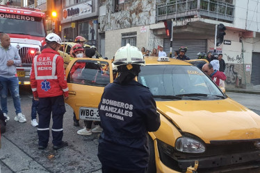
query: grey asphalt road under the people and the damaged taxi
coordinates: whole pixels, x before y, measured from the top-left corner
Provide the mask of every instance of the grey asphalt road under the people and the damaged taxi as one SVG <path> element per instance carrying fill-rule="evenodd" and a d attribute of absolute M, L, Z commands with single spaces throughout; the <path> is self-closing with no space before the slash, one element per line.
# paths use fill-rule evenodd
<path fill-rule="evenodd" d="M 99 134 L 79 136 L 76 131 L 81 127 L 74 127 L 72 109 L 66 105 L 64 116 L 63 140 L 69 147 L 55 151 L 52 149 L 51 138 L 45 150 L 38 149 L 37 127 L 31 126 L 32 94 L 29 88 L 20 89 L 22 111 L 27 122 L 19 123 L 13 120 L 15 109 L 13 100 L 8 97 L 7 131 L 1 136 L 0 150 L 1 172 L 101 172 L 101 164 L 97 158 L 97 144 Z M 260 115 L 260 95 L 245 93 L 227 93 L 230 98 L 240 102 Z"/>

